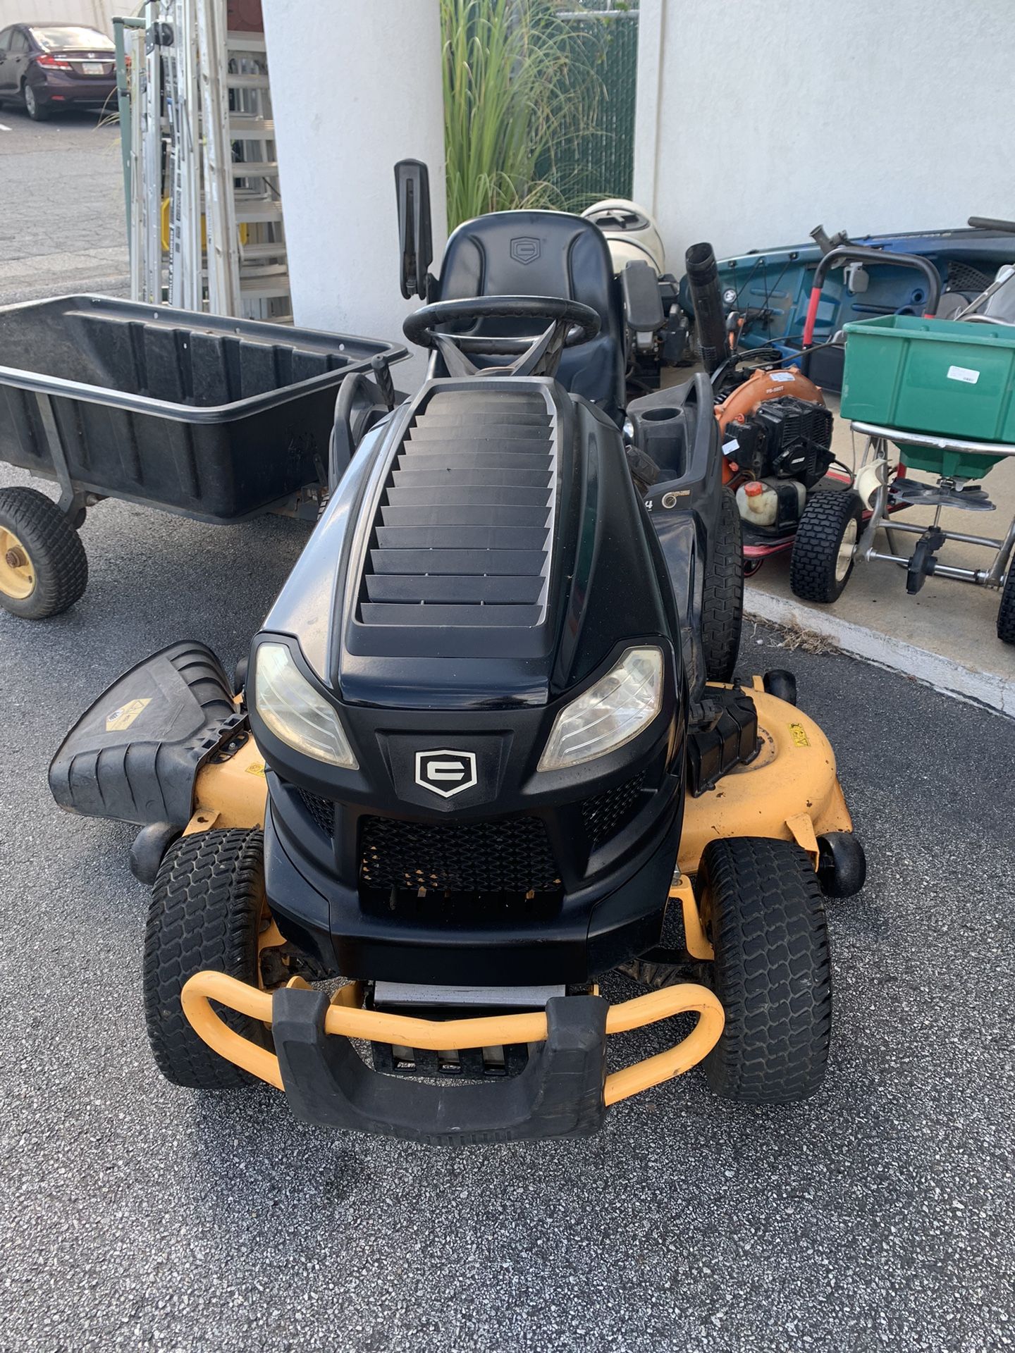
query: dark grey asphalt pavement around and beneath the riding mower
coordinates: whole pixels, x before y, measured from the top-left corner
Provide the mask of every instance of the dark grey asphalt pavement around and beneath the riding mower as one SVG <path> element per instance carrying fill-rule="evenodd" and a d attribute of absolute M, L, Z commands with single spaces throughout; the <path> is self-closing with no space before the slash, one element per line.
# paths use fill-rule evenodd
<path fill-rule="evenodd" d="M 743 671 L 797 672 L 869 859 L 830 904 L 815 1099 L 740 1108 L 693 1070 L 591 1141 L 447 1153 L 160 1078 L 130 829 L 58 812 L 46 764 L 161 644 L 241 653 L 304 538 L 107 502 L 84 599 L 0 614 L 0 1346 L 1015 1346 L 1015 724 L 770 632 L 748 626 Z"/>

